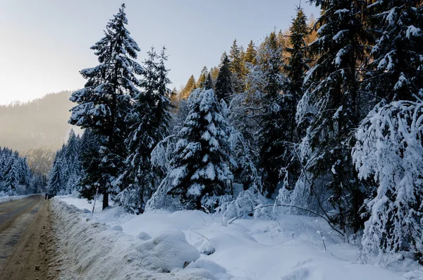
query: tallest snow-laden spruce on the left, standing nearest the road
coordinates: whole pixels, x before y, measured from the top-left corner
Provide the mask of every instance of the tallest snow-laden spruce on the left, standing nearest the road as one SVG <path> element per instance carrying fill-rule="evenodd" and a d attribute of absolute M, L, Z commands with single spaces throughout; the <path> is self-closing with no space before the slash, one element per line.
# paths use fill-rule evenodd
<path fill-rule="evenodd" d="M 100 142 L 97 169 L 85 171 L 85 185 L 80 193 L 92 199 L 99 188 L 103 209 L 109 205 L 109 193 L 116 195 L 120 191 L 111 182 L 118 176 L 127 156 L 125 116 L 131 97 L 140 93 L 136 86 L 141 85 L 136 75 L 142 74 L 142 67 L 134 60 L 140 48 L 125 28 L 128 20 L 124 8 L 123 4 L 107 24 L 105 37 L 91 47 L 99 65 L 80 71 L 88 81 L 71 97 L 78 105 L 73 107 L 69 123 L 90 128 L 99 135 Z"/>

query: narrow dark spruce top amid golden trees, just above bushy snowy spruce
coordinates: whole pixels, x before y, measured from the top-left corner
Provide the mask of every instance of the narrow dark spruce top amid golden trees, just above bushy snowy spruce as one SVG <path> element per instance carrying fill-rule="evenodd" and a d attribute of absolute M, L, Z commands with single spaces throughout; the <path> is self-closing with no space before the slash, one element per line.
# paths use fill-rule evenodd
<path fill-rule="evenodd" d="M 231 95 L 233 95 L 233 88 L 232 88 L 232 73 L 230 66 L 230 61 L 226 52 L 223 53 L 221 59 L 221 67 L 219 68 L 219 75 L 217 75 L 216 80 L 216 96 L 217 99 L 225 100 L 227 104 L 230 102 Z"/>

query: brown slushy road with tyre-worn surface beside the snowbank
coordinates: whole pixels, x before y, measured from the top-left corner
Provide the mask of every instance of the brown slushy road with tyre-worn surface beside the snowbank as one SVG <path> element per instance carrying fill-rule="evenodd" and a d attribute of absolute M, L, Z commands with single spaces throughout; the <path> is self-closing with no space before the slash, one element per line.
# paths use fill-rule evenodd
<path fill-rule="evenodd" d="M 49 201 L 42 195 L 0 203 L 0 279 L 56 279 Z"/>

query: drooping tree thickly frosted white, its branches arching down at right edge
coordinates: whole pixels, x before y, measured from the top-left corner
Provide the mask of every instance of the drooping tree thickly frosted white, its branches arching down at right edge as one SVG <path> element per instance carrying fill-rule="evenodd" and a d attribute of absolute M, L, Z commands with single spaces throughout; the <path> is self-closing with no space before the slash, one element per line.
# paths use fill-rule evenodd
<path fill-rule="evenodd" d="M 423 93 L 423 88 L 421 89 Z M 367 209 L 362 252 L 410 251 L 423 264 L 423 104 L 376 106 L 356 132 L 353 160 L 377 190 Z"/>

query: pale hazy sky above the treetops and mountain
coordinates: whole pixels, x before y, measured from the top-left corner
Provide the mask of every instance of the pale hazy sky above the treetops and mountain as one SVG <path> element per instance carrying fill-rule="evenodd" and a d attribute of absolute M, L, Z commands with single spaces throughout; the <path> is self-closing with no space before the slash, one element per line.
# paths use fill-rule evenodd
<path fill-rule="evenodd" d="M 79 71 L 97 65 L 90 49 L 122 1 L 0 0 L 0 104 L 75 90 Z M 304 3 L 309 16 L 319 10 Z M 168 49 L 173 86 L 217 66 L 233 39 L 246 46 L 295 16 L 295 0 L 127 0 L 128 30 L 141 48 Z"/>

